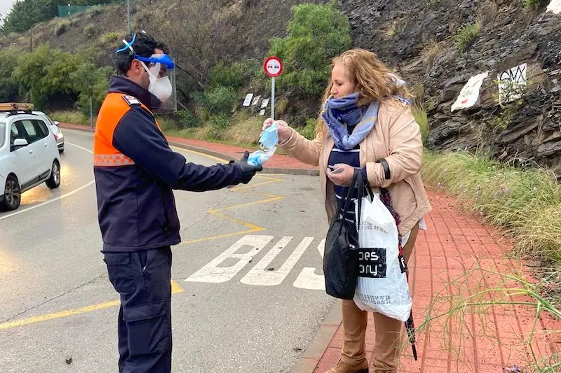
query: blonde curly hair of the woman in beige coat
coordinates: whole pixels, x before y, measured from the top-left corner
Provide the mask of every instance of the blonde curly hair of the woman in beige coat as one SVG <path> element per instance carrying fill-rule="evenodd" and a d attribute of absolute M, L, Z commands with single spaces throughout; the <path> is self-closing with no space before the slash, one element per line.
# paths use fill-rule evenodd
<path fill-rule="evenodd" d="M 355 48 L 343 52 L 331 60 L 331 68 L 336 64 L 342 64 L 349 71 L 349 78 L 355 84 L 355 92 L 361 94 L 359 105 L 370 104 L 372 101 L 381 101 L 388 97 L 400 95 L 405 99 L 413 96 L 405 85 L 398 84 L 398 77 L 394 75 L 388 66 L 378 59 L 378 56 L 370 50 Z M 330 82 L 325 88 L 323 101 L 316 122 L 316 134 L 325 136 L 327 125 L 321 119 L 323 105 L 330 97 L 333 83 Z"/>

